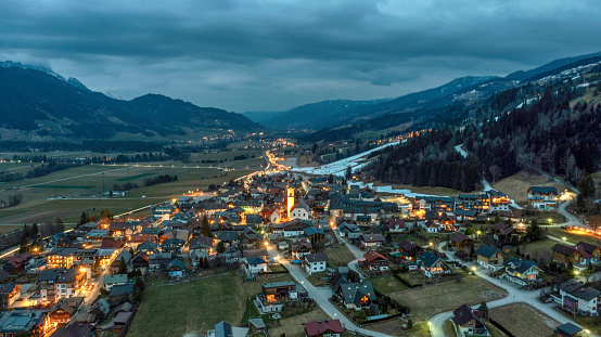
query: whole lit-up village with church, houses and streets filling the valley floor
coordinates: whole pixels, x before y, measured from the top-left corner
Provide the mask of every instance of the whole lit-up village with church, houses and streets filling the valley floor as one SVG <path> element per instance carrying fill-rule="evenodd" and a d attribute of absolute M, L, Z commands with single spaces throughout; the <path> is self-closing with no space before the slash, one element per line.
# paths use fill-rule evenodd
<path fill-rule="evenodd" d="M 154 307 L 169 295 L 150 294 L 179 287 L 195 308 L 186 291 L 210 280 L 244 289 L 225 308 L 244 314 L 213 322 L 220 309 L 205 303 L 194 309 L 202 324 L 178 326 L 186 336 L 599 333 L 601 248 L 558 211 L 565 192 L 525 186 L 519 209 L 491 189 L 409 197 L 366 187 L 365 174 L 309 177 L 266 157 L 265 171 L 151 213 L 107 216 L 4 254 L 0 336 L 151 336 L 162 324 L 148 320 L 177 317 Z"/>

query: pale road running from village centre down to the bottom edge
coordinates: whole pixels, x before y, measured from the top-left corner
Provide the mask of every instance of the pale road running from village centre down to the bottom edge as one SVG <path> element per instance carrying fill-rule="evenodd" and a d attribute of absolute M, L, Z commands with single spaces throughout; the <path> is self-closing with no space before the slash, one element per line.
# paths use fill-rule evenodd
<path fill-rule="evenodd" d="M 277 256 L 279 256 L 278 250 L 274 248 L 273 245 L 269 244 L 267 245 L 267 251 L 269 252 L 269 257 L 271 259 L 274 259 Z M 292 277 L 296 280 L 296 282 L 300 283 L 305 289 L 307 289 L 307 293 L 309 293 L 310 297 L 316 301 L 316 303 L 325 312 L 331 319 L 333 320 L 340 320 L 342 325 L 351 330 L 359 332 L 361 334 L 365 334 L 367 336 L 374 336 L 374 337 L 389 337 L 389 335 L 380 334 L 376 332 L 368 330 L 365 328 L 360 328 L 355 323 L 353 323 L 350 320 L 348 320 L 334 304 L 330 302 L 330 298 L 332 297 L 331 293 L 327 293 L 325 289 L 322 287 L 315 287 L 306 277 L 305 271 L 295 264 L 291 264 L 287 260 L 285 260 L 283 257 L 279 256 L 279 260 L 281 261 L 282 265 L 285 267 L 289 271 Z M 330 294 L 329 297 L 325 297 L 324 295 Z"/>

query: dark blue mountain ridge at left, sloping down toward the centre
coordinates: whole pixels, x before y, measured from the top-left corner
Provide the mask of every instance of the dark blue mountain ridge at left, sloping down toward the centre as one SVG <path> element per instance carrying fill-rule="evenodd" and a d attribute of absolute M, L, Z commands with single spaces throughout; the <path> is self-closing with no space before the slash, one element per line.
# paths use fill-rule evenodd
<path fill-rule="evenodd" d="M 77 141 L 84 139 L 166 140 L 189 135 L 264 130 L 241 114 L 159 94 L 131 101 L 94 92 L 75 78 L 43 67 L 0 63 L 2 139 Z"/>

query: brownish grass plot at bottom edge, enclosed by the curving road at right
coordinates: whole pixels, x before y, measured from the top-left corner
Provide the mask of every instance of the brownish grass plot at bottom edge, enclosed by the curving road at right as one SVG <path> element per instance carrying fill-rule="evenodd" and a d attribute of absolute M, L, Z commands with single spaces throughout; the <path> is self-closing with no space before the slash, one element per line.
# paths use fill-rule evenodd
<path fill-rule="evenodd" d="M 525 303 L 491 309 L 489 316 L 515 336 L 552 336 L 555 320 Z"/>

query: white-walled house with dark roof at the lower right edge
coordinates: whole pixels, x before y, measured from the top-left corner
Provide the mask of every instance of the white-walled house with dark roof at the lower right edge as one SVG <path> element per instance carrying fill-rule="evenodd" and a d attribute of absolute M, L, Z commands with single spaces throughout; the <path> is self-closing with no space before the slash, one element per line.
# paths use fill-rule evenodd
<path fill-rule="evenodd" d="M 570 280 L 559 286 L 559 298 L 561 307 L 571 312 L 578 313 L 584 316 L 599 315 L 599 296 L 600 291 L 585 286 L 581 282 Z"/>

